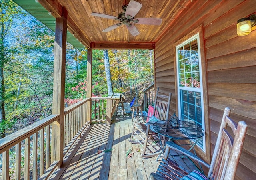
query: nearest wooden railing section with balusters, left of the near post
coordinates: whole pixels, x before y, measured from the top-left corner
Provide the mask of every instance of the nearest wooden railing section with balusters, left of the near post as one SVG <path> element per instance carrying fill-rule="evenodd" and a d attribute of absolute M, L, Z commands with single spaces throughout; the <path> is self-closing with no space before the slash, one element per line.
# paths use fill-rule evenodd
<path fill-rule="evenodd" d="M 50 115 L 1 139 L 2 178 L 0 177 L 0 179 L 8 180 L 9 176 L 20 179 L 22 175 L 25 180 L 30 178 L 36 180 L 38 178 L 38 165 L 40 176 L 50 167 L 51 123 L 59 118 L 60 115 Z M 12 163 L 10 163 L 9 154 L 10 152 L 13 154 L 14 151 L 16 156 L 11 159 Z M 38 154 L 40 154 L 40 158 Z M 15 164 L 15 167 L 9 167 L 9 164 Z M 56 167 L 58 162 L 52 164 Z M 15 174 L 9 174 L 9 172 Z M 32 177 L 30 177 L 30 172 L 32 172 Z"/>

